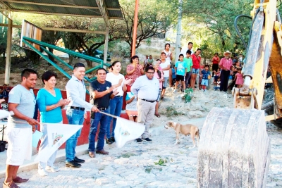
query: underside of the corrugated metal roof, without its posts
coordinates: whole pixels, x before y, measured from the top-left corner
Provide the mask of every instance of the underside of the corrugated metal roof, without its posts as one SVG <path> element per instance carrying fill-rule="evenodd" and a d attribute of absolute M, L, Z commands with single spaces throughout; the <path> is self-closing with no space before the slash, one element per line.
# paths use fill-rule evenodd
<path fill-rule="evenodd" d="M 101 17 L 102 13 L 94 0 L 2 0 L 11 11 L 28 13 L 45 13 L 56 15 L 78 15 Z M 118 0 L 104 0 L 106 10 L 111 18 L 123 18 Z M 109 9 L 108 9 L 109 8 Z"/>

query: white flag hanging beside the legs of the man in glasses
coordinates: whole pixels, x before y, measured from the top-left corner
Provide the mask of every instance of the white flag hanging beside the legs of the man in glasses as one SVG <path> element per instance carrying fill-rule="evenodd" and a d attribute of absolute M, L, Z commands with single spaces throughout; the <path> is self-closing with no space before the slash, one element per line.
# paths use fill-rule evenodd
<path fill-rule="evenodd" d="M 126 142 L 140 137 L 144 131 L 145 125 L 117 117 L 114 130 L 116 146 L 121 148 Z"/>

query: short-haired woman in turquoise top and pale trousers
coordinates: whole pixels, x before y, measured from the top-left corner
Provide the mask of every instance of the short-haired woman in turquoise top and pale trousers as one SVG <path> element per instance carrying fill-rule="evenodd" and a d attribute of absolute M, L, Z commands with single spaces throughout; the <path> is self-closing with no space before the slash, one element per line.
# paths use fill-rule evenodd
<path fill-rule="evenodd" d="M 47 127 L 43 123 L 63 123 L 61 109 L 69 103 L 67 99 L 62 99 L 60 89 L 55 88 L 57 75 L 54 72 L 47 71 L 42 75 L 44 88 L 39 89 L 37 93 L 37 104 L 40 111 L 40 130 L 42 132 L 39 153 L 48 146 Z M 54 166 L 56 153 L 53 153 L 47 163 L 38 163 L 38 173 L 41 176 L 48 175 L 47 171 L 57 172 L 59 168 Z"/>

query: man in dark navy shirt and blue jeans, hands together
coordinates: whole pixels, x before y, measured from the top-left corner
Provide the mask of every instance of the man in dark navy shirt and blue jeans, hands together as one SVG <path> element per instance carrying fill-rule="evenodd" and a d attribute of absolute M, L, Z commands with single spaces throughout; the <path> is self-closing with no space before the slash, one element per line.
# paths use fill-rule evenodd
<path fill-rule="evenodd" d="M 118 92 L 114 89 L 115 86 L 111 86 L 111 82 L 106 81 L 106 70 L 104 68 L 99 68 L 97 70 L 97 80 L 90 83 L 90 103 L 97 106 L 99 111 L 109 113 L 109 101 L 118 94 Z M 106 134 L 106 124 L 108 122 L 108 118 L 109 116 L 103 113 L 91 113 L 90 132 L 88 137 L 88 153 L 91 158 L 95 157 L 95 137 L 99 123 L 100 130 L 98 134 L 96 153 L 103 155 L 109 154 L 108 151 L 104 151 L 104 137 Z"/>

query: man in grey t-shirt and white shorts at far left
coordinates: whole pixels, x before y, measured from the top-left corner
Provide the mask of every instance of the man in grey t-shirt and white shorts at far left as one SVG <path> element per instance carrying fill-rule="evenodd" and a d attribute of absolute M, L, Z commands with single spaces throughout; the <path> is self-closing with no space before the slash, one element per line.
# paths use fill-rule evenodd
<path fill-rule="evenodd" d="M 37 73 L 32 69 L 25 69 L 21 73 L 22 82 L 9 92 L 8 111 L 14 115 L 8 117 L 6 135 L 8 141 L 6 177 L 3 187 L 18 188 L 17 184 L 27 182 L 28 179 L 18 177 L 18 168 L 25 159 L 32 156 L 32 132 L 35 132 L 37 120 L 35 113 L 35 94 L 33 88 L 37 81 Z"/>

